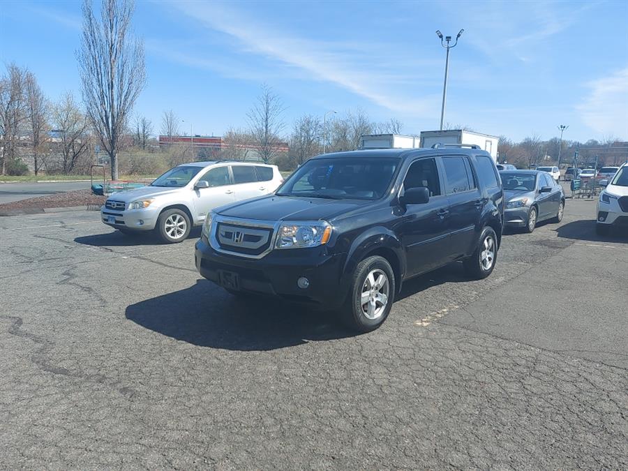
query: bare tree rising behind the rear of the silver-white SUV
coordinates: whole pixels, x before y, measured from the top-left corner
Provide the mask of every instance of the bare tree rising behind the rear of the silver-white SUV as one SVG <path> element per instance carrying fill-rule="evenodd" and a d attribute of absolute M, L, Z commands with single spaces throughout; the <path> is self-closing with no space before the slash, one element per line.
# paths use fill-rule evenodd
<path fill-rule="evenodd" d="M 266 163 L 279 154 L 279 144 L 281 144 L 279 135 L 285 127 L 281 118 L 283 110 L 279 97 L 268 85 L 264 84 L 257 103 L 247 114 L 253 145 L 257 154 Z"/>

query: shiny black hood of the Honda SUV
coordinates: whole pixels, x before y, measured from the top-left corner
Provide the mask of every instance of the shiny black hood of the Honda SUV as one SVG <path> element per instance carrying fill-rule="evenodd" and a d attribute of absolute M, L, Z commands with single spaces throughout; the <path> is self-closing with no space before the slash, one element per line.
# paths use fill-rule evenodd
<path fill-rule="evenodd" d="M 220 216 L 257 220 L 331 220 L 370 204 L 370 200 L 329 200 L 269 195 L 218 209 Z"/>

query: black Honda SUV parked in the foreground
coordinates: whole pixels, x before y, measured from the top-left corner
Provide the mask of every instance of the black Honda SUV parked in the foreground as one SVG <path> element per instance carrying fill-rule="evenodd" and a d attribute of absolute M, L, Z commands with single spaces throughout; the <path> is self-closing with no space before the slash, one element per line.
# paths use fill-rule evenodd
<path fill-rule="evenodd" d="M 490 275 L 503 212 L 493 158 L 475 146 L 323 154 L 274 194 L 211 212 L 195 263 L 234 295 L 338 311 L 370 331 L 413 276 L 456 260 Z"/>

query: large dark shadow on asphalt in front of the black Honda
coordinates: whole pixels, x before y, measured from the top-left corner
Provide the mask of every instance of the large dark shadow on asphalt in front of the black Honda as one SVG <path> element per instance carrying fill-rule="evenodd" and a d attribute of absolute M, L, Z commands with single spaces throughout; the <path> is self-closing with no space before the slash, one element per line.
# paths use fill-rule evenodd
<path fill-rule="evenodd" d="M 264 351 L 354 334 L 333 313 L 272 298 L 237 299 L 205 280 L 126 308 L 126 318 L 200 347 Z"/>

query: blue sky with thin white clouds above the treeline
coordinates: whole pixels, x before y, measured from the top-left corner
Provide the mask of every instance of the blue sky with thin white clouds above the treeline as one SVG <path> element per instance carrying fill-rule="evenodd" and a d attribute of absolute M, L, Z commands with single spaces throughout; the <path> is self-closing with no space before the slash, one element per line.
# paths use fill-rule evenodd
<path fill-rule="evenodd" d="M 96 0 L 94 3 L 98 4 Z M 0 1 L 0 61 L 36 73 L 50 98 L 78 96 L 78 1 Z M 172 108 L 194 133 L 246 126 L 260 85 L 301 114 L 360 108 L 403 132 L 445 121 L 515 140 L 628 140 L 628 2 L 137 1 L 147 88 L 135 112 L 156 130 Z M 189 132 L 189 130 L 188 130 Z"/>

